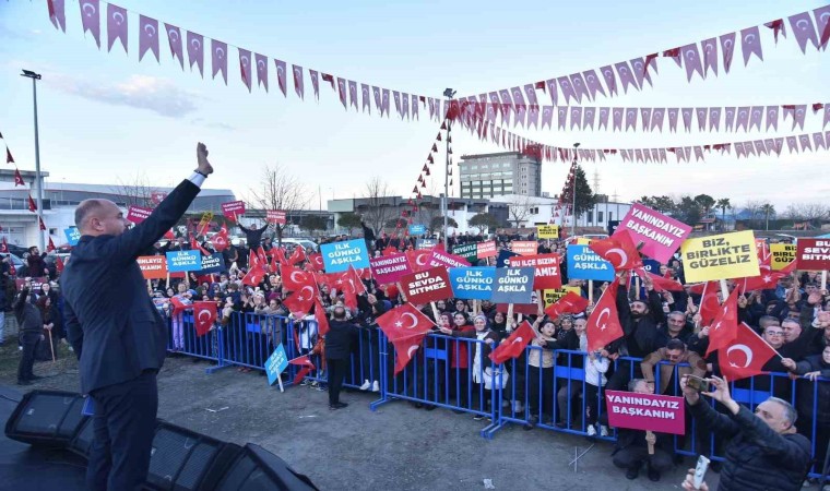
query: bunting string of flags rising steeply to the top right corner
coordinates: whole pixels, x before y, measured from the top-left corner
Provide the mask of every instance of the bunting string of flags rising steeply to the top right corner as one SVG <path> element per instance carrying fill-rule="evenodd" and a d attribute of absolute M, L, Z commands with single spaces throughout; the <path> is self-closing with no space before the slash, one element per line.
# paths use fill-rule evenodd
<path fill-rule="evenodd" d="M 803 53 L 807 52 L 808 44 L 817 50 L 827 50 L 828 41 L 830 41 L 830 5 L 791 15 L 787 21 L 793 38 Z M 678 68 L 685 68 L 687 82 L 691 82 L 695 73 L 706 80 L 710 72 L 718 76 L 721 62 L 722 73 L 727 74 L 730 72 L 738 41 L 740 43 L 744 65 L 749 64 L 754 55 L 763 61 L 761 32 L 769 33 L 774 43 L 778 44 L 780 35 L 786 37 L 784 20 L 778 19 L 699 43 L 659 50 L 644 57 L 610 63 L 570 75 L 555 76 L 515 87 L 483 93 L 478 95 L 478 101 L 490 100 L 501 108 L 503 117 L 509 117 L 510 112 L 513 112 L 520 121 L 524 120 L 525 113 L 529 118 L 537 118 L 538 111 L 533 109 L 538 107 L 537 91 L 542 91 L 543 94 L 547 93 L 547 96 L 550 97 L 550 104 L 554 106 L 568 105 L 571 99 L 578 104 L 581 104 L 583 98 L 594 100 L 598 94 L 606 98 L 615 97 L 619 95 L 620 86 L 624 94 L 628 93 L 630 86 L 637 91 L 642 91 L 645 88 L 645 83 L 653 86 L 652 77 L 657 75 L 659 58 L 671 58 Z M 740 37 L 737 37 L 738 35 Z M 462 99 L 475 100 L 475 96 L 466 96 Z"/>

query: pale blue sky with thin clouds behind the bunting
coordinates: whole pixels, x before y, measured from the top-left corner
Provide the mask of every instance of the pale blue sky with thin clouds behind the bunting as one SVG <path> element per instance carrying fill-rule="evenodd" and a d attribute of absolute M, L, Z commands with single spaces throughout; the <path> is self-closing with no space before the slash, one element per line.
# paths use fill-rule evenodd
<path fill-rule="evenodd" d="M 306 75 L 305 101 L 276 88 L 249 94 L 230 48 L 228 85 L 170 59 L 162 37 L 162 62 L 138 61 L 138 15 L 129 19 L 129 55 L 116 45 L 106 51 L 83 35 L 78 0 L 67 0 L 67 33 L 48 20 L 46 2 L 0 1 L 0 132 L 21 169 L 34 169 L 32 84 L 21 69 L 43 74 L 38 85 L 44 170 L 54 182 L 112 183 L 145 175 L 170 185 L 194 165 L 203 141 L 216 173 L 210 187 L 245 193 L 265 164 L 280 164 L 300 177 L 317 207 L 322 197 L 360 196 L 365 182 L 381 176 L 396 194 L 408 193 L 432 144 L 438 124 L 426 117 L 401 121 L 344 111 L 336 93 L 321 84 L 320 100 Z M 695 2 L 170 2 L 121 0 L 120 5 L 235 46 L 349 80 L 406 93 L 440 97 L 479 94 L 596 69 L 650 52 L 821 7 L 816 1 Z M 242 7 L 244 5 L 244 7 Z M 520 8 L 517 8 L 520 7 Z M 102 3 L 102 8 L 105 9 Z M 105 22 L 105 19 L 104 19 Z M 605 99 L 595 106 L 751 106 L 830 103 L 828 51 L 811 46 L 803 55 L 788 23 L 788 37 L 775 46 L 762 28 L 763 59 L 744 67 L 735 52 L 731 73 L 697 75 L 668 59 L 659 60 L 654 87 Z M 273 62 L 272 62 L 273 63 Z M 542 97 L 542 95 L 541 95 Z M 549 99 L 542 97 L 542 100 Z M 810 112 L 805 130 L 779 125 L 778 133 L 619 133 L 514 130 L 540 142 L 585 147 L 656 147 L 785 136 L 821 130 Z M 829 128 L 830 129 L 830 128 Z M 453 132 L 454 155 L 500 152 Z M 630 164 L 618 157 L 585 164 L 598 171 L 600 191 L 630 201 L 643 194 L 708 193 L 734 205 L 768 199 L 779 211 L 793 201 L 826 200 L 830 171 L 826 151 L 782 157 L 707 155 L 706 164 Z M 437 156 L 430 184 L 442 187 Z M 567 165 L 544 164 L 543 191 L 558 193 Z M 592 182 L 593 183 L 593 182 Z M 318 194 L 319 192 L 319 194 Z M 455 191 L 458 195 L 458 182 Z"/>

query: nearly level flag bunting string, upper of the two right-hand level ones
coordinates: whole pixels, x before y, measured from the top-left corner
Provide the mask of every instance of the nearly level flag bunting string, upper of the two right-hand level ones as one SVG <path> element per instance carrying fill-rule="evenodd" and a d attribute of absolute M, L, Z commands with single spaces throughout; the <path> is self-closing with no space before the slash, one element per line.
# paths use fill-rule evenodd
<path fill-rule="evenodd" d="M 495 115 L 500 106 L 493 103 L 459 100 L 460 110 L 465 110 L 473 117 L 484 115 L 486 121 L 496 121 Z M 792 130 L 804 130 L 806 117 L 809 113 L 821 116 L 821 128 L 830 124 L 830 103 L 790 104 L 773 106 L 728 106 L 728 107 L 583 107 L 583 106 L 519 106 L 519 109 L 538 111 L 542 117 L 527 120 L 526 128 L 554 130 L 606 130 L 606 131 L 642 131 L 675 133 L 679 129 L 687 133 L 698 131 L 750 132 L 778 131 L 782 125 L 792 122 Z M 766 121 L 766 123 L 764 123 Z M 570 124 L 569 124 L 570 122 Z M 517 117 L 512 125 L 521 123 Z M 696 124 L 697 123 L 697 124 Z M 510 124 L 509 115 L 501 118 L 501 124 Z M 524 125 L 524 124 L 522 124 Z"/>

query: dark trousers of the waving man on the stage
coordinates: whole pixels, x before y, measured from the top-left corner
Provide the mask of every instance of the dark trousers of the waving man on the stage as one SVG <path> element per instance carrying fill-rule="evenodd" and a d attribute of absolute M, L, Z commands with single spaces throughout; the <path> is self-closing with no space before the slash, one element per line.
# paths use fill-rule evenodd
<path fill-rule="evenodd" d="M 95 432 L 86 468 L 90 490 L 134 490 L 146 480 L 156 428 L 158 387 L 155 370 L 133 380 L 100 387 L 95 403 Z M 111 441 L 118 442 L 116 446 Z M 111 455 L 111 458 L 110 458 Z"/>

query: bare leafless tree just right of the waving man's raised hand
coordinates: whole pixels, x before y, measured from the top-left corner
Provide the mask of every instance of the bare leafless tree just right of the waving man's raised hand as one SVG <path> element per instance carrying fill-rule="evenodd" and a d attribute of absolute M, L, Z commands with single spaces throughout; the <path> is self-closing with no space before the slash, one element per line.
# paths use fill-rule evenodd
<path fill-rule="evenodd" d="M 282 212 L 294 212 L 308 206 L 309 194 L 303 183 L 297 180 L 296 176 L 288 173 L 278 164 L 273 166 L 265 165 L 262 168 L 262 178 L 260 188 L 250 188 L 248 204 L 254 208 L 278 209 Z M 272 224 L 276 231 L 277 244 L 283 243 L 283 230 L 289 224 Z"/>

